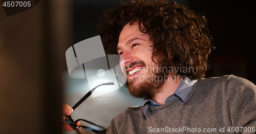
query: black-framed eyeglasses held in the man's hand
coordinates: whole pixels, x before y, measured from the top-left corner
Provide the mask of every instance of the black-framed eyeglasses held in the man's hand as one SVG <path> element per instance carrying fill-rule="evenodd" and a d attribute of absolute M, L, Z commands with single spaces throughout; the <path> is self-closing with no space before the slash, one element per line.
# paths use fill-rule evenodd
<path fill-rule="evenodd" d="M 84 95 L 73 107 L 72 109 L 75 110 L 77 108 L 77 106 L 79 106 L 84 100 L 86 100 L 92 93 L 93 91 L 98 88 L 99 86 L 103 86 L 103 85 L 114 85 L 114 83 L 104 83 L 104 84 L 100 84 L 96 87 L 94 87 L 91 91 L 89 91 L 86 95 Z M 78 119 L 76 121 L 74 121 L 71 118 L 71 115 L 66 116 L 64 115 L 65 121 L 70 125 L 71 128 L 73 128 L 76 132 L 80 133 L 80 134 L 102 134 L 106 132 L 106 128 L 94 124 L 90 121 L 84 120 L 84 119 Z M 82 126 L 77 126 L 77 122 L 80 121 L 81 123 L 86 123 L 86 126 L 82 125 Z"/>

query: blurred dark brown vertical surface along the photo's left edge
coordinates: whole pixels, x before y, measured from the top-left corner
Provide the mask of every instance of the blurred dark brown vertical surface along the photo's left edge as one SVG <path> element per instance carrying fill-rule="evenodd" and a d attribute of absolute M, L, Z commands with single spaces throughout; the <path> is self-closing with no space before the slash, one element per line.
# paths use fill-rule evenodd
<path fill-rule="evenodd" d="M 6 11 L 23 8 L 5 10 L 2 2 L 0 133 L 62 133 L 62 73 L 71 44 L 71 4 L 41 1 L 8 16 Z"/>

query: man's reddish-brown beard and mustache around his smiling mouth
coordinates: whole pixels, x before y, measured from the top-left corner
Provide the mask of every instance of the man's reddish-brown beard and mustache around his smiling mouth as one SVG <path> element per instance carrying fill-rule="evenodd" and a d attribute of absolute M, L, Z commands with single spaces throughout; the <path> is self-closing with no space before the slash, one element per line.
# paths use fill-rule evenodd
<path fill-rule="evenodd" d="M 145 70 L 147 68 L 145 62 L 143 61 L 133 62 L 129 65 L 129 67 L 135 65 L 143 65 Z M 166 78 L 166 75 L 159 73 L 157 69 L 155 69 L 154 72 L 152 69 L 147 69 L 146 74 L 146 78 L 144 78 L 144 80 L 141 82 L 137 82 L 137 79 L 136 82 L 127 80 L 126 86 L 132 96 L 136 98 L 152 99 L 157 93 L 162 91 L 161 88 L 165 83 L 163 79 Z"/>

